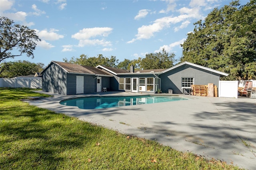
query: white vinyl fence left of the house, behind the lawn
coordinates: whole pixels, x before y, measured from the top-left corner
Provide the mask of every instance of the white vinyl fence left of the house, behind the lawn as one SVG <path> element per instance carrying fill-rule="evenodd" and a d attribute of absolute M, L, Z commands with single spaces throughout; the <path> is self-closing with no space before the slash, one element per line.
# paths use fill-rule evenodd
<path fill-rule="evenodd" d="M 42 89 L 42 77 L 0 78 L 0 87 L 27 87 L 31 89 Z"/>

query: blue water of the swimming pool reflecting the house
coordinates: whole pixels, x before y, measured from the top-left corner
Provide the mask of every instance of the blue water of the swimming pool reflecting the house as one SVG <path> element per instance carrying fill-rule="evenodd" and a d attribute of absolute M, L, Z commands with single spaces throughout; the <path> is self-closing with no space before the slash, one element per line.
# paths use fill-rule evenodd
<path fill-rule="evenodd" d="M 144 96 L 128 96 L 128 97 L 84 97 L 60 101 L 60 104 L 67 106 L 77 106 L 80 109 L 103 109 L 110 107 L 122 107 L 130 105 L 143 105 L 151 103 L 161 103 L 168 101 L 180 101 L 188 100 L 183 96 L 154 96 L 154 95 L 144 95 Z"/>

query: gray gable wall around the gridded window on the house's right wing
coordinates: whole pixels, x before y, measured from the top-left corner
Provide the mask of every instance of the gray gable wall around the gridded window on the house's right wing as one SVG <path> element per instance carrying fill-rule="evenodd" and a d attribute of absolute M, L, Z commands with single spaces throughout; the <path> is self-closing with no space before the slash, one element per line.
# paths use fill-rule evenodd
<path fill-rule="evenodd" d="M 194 77 L 195 85 L 214 83 L 217 87 L 220 80 L 219 74 L 191 65 L 182 65 L 160 75 L 162 92 L 166 93 L 168 89 L 172 89 L 173 93 L 182 94 L 182 77 Z"/>

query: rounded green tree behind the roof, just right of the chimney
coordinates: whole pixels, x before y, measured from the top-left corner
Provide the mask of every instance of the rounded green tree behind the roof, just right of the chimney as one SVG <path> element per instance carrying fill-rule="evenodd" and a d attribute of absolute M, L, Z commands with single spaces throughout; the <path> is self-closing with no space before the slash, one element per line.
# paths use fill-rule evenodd
<path fill-rule="evenodd" d="M 168 53 L 165 49 L 162 49 L 162 53 L 149 53 L 140 62 L 142 69 L 166 69 L 173 66 L 176 61 L 174 59 L 174 53 Z"/>

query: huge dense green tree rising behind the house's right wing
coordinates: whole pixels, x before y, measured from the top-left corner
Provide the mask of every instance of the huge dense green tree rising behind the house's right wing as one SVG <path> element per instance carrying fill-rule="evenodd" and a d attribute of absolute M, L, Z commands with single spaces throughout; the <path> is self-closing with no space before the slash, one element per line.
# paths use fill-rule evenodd
<path fill-rule="evenodd" d="M 228 77 L 224 77 L 228 80 L 255 77 L 252 73 L 252 63 L 256 61 L 255 35 L 252 34 L 253 29 L 250 36 L 244 34 L 245 29 L 238 29 L 242 26 L 237 23 L 238 16 L 247 17 L 241 13 L 245 6 L 239 9 L 238 6 L 239 1 L 233 1 L 230 5 L 212 10 L 205 22 L 196 22 L 194 31 L 182 44 L 180 61 L 229 73 Z M 246 23 L 243 24 L 246 28 Z"/>

